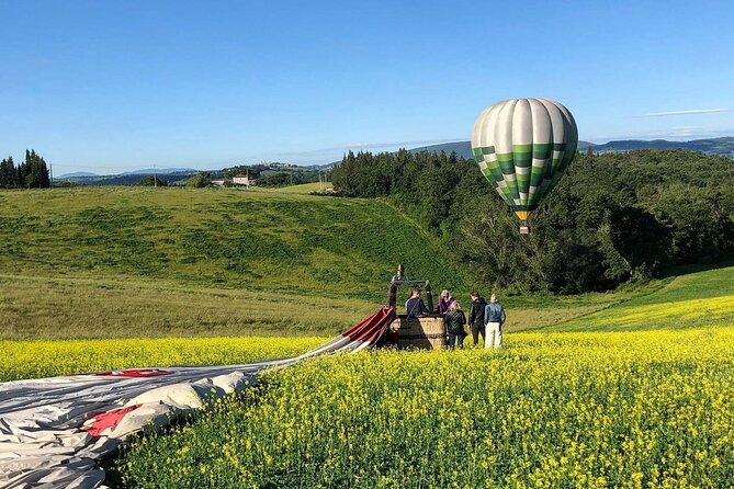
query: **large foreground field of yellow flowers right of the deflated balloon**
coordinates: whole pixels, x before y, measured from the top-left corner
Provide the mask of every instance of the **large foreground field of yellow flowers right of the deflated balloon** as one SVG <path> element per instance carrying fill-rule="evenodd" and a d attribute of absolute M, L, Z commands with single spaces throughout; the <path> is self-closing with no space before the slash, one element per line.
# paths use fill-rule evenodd
<path fill-rule="evenodd" d="M 115 463 L 125 487 L 732 487 L 734 327 L 309 361 Z"/>

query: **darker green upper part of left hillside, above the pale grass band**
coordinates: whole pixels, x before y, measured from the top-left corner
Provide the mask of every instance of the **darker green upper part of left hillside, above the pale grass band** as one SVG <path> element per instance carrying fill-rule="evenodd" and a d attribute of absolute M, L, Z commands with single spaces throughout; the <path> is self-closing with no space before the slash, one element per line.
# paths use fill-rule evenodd
<path fill-rule="evenodd" d="M 0 272 L 125 275 L 372 296 L 397 263 L 466 288 L 443 250 L 380 201 L 185 189 L 0 193 Z"/>

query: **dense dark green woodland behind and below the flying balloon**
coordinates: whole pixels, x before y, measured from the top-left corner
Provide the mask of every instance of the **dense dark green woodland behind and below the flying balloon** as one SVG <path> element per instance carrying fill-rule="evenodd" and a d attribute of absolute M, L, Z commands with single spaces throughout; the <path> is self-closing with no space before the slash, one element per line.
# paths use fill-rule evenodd
<path fill-rule="evenodd" d="M 665 268 L 734 258 L 734 160 L 684 150 L 577 155 L 521 236 L 473 160 L 349 152 L 338 194 L 384 197 L 440 239 L 476 285 L 607 291 Z"/>

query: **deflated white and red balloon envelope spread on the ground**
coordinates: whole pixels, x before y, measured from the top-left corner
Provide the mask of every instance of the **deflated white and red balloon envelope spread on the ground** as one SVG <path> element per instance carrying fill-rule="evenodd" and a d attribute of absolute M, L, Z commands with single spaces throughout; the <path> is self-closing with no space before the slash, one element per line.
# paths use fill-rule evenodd
<path fill-rule="evenodd" d="M 132 433 L 166 425 L 213 399 L 241 391 L 263 369 L 371 348 L 393 318 L 392 309 L 381 309 L 294 359 L 0 383 L 0 488 L 103 488 L 98 462 Z"/>

